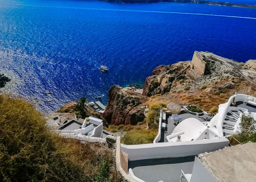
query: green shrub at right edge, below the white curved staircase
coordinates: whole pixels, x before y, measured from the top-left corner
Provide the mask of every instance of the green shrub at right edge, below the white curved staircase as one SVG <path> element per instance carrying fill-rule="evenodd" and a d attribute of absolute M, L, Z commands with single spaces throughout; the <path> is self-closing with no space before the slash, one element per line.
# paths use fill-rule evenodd
<path fill-rule="evenodd" d="M 256 121 L 251 116 L 243 116 L 239 125 L 240 132 L 232 135 L 241 143 L 247 143 L 249 141 L 256 142 Z M 231 137 L 228 137 L 231 141 Z"/>

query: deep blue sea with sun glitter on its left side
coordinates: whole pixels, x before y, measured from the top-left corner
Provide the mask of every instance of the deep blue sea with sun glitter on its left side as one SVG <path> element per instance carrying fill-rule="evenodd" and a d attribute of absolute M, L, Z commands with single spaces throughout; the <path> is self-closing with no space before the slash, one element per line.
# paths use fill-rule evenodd
<path fill-rule="evenodd" d="M 44 112 L 82 96 L 95 101 L 104 95 L 107 104 L 111 85 L 143 85 L 156 66 L 191 60 L 194 51 L 256 59 L 256 9 L 0 0 L 0 72 L 12 78 L 6 91 Z M 109 72 L 99 71 L 100 65 Z"/>

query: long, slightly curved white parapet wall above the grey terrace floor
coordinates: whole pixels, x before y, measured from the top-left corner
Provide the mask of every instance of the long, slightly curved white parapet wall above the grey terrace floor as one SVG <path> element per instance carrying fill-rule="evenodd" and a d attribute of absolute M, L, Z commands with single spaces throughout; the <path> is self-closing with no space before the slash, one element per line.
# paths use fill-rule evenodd
<path fill-rule="evenodd" d="M 129 160 L 157 159 L 166 157 L 193 156 L 212 152 L 229 145 L 227 138 L 204 139 L 186 142 L 165 142 L 142 145 L 123 145 L 121 150 L 128 154 Z"/>

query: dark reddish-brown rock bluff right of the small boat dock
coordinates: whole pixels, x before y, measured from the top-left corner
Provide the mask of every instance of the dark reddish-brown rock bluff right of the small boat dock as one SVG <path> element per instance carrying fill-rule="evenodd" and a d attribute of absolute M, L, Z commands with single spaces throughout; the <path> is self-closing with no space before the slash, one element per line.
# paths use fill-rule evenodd
<path fill-rule="evenodd" d="M 136 125 L 145 118 L 144 107 L 137 107 L 144 101 L 145 98 L 138 93 L 113 85 L 108 92 L 108 105 L 103 117 L 111 125 Z"/>

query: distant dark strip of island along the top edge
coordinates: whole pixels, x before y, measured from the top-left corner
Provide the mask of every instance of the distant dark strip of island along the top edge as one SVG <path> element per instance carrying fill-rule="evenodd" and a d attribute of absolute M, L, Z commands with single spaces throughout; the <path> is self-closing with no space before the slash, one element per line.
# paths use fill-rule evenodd
<path fill-rule="evenodd" d="M 196 4 L 209 4 L 216 6 L 231 6 L 241 8 L 256 9 L 256 5 L 237 4 L 237 3 L 221 3 L 209 0 L 102 0 L 110 3 L 196 3 Z"/>

